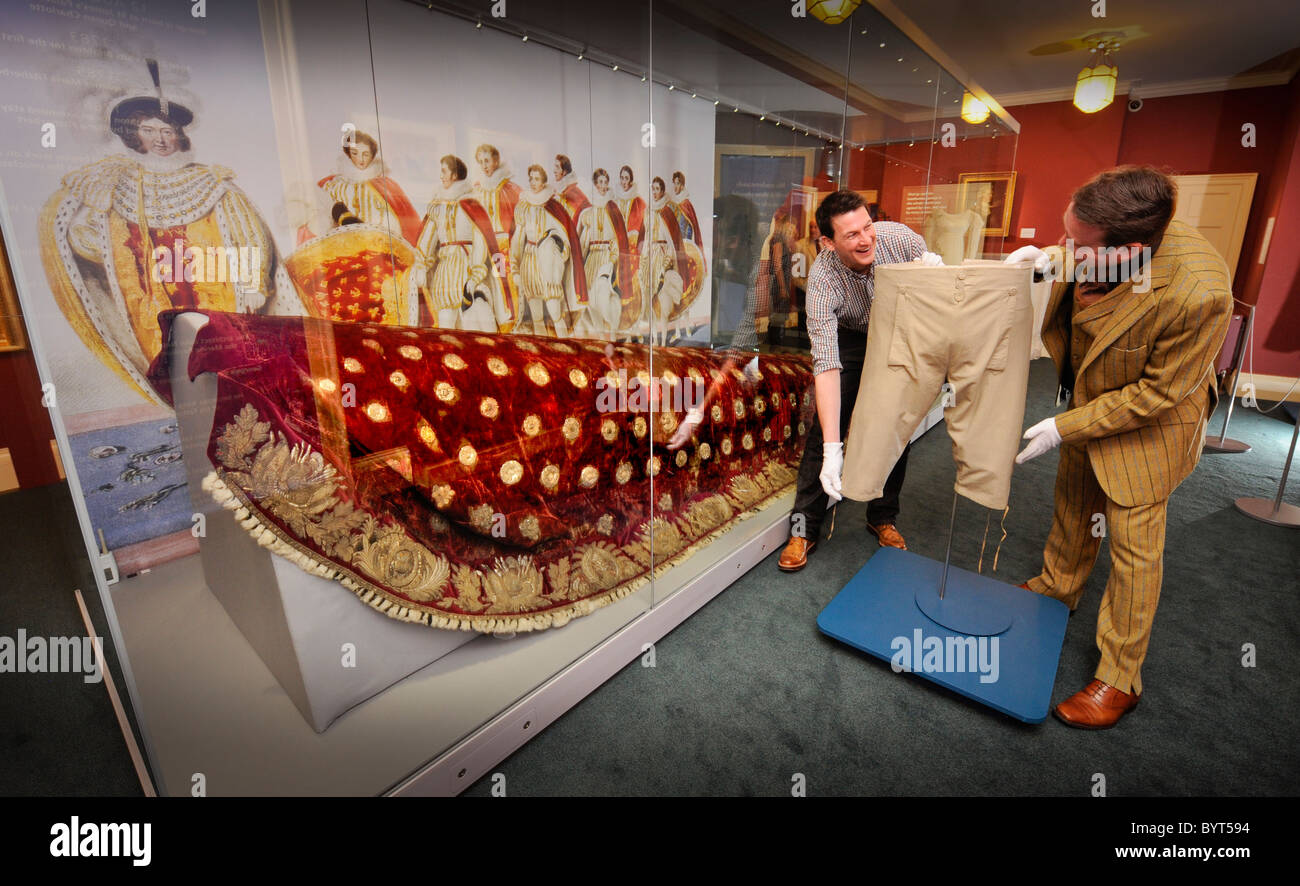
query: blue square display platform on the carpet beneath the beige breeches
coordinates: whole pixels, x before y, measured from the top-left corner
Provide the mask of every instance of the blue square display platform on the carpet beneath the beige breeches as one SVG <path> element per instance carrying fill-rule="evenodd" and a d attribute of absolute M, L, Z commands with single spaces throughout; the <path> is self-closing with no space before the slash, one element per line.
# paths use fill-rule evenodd
<path fill-rule="evenodd" d="M 881 548 L 827 604 L 816 626 L 894 670 L 1024 722 L 1046 720 L 1070 609 L 956 566 L 940 600 L 942 569 L 918 553 Z"/>

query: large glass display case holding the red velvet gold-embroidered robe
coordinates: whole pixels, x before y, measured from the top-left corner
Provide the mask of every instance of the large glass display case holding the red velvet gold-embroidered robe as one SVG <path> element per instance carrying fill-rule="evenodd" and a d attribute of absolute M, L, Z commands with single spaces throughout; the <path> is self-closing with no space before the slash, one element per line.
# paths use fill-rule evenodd
<path fill-rule="evenodd" d="M 160 792 L 490 772 L 784 543 L 819 201 L 1008 235 L 867 5 L 79 6 L 4 13 L 0 218 Z"/>

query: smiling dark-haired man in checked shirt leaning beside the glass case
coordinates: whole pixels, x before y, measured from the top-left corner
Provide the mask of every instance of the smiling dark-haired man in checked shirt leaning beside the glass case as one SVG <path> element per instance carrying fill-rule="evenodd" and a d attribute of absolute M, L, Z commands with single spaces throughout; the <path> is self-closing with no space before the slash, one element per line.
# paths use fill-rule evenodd
<path fill-rule="evenodd" d="M 809 429 L 800 462 L 790 540 L 777 563 L 784 572 L 798 572 L 807 565 L 807 556 L 822 535 L 827 504 L 842 498 L 844 437 L 858 399 L 867 351 L 874 268 L 905 261 L 942 264 L 937 255 L 926 252 L 926 242 L 909 227 L 897 222 L 874 223 L 866 203 L 853 191 L 836 191 L 826 197 L 818 207 L 816 225 L 822 251 L 809 270 L 806 305 L 816 421 Z M 884 495 L 867 504 L 871 534 L 880 544 L 902 550 L 907 546 L 894 521 L 909 449 L 904 449 L 885 481 Z"/>

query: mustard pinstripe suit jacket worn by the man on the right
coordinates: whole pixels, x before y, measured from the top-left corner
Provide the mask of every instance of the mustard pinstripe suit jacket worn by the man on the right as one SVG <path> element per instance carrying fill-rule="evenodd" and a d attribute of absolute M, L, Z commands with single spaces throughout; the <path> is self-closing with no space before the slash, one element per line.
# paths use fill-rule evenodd
<path fill-rule="evenodd" d="M 1113 292 L 1075 373 L 1074 408 L 1056 420 L 1061 442 L 1084 448 L 1101 488 L 1128 508 L 1167 499 L 1200 460 L 1232 313 L 1227 265 L 1190 225 L 1169 223 L 1149 273 L 1149 291 L 1126 282 Z M 1057 372 L 1070 360 L 1072 294 L 1057 282 L 1043 321 Z"/>

